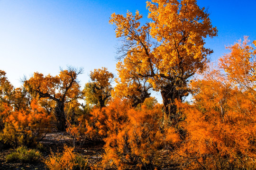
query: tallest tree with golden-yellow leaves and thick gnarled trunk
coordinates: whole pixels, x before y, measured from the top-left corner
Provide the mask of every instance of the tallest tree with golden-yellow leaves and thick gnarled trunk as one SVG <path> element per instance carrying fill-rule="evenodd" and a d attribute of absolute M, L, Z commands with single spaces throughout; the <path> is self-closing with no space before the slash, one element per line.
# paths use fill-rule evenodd
<path fill-rule="evenodd" d="M 147 2 L 151 23 L 140 25 L 142 15 L 113 13 L 116 36 L 123 38 L 117 70 L 120 79 L 147 77 L 153 89 L 160 91 L 164 109 L 176 112 L 174 101 L 189 92 L 188 80 L 203 71 L 212 53 L 204 47 L 204 38 L 217 35 L 209 14 L 196 0 L 152 0 Z"/>

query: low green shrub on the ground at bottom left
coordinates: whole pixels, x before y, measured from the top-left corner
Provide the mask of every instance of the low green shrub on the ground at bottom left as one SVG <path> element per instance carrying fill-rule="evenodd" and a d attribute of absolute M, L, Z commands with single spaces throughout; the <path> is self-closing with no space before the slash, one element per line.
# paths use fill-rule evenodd
<path fill-rule="evenodd" d="M 27 149 L 26 146 L 18 147 L 15 152 L 8 154 L 7 162 L 37 162 L 41 158 L 41 153 L 35 149 Z"/>

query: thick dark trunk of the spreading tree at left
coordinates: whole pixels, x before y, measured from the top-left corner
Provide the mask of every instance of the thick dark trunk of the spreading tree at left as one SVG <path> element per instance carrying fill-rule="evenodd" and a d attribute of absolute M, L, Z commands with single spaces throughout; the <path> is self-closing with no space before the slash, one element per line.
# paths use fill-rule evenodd
<path fill-rule="evenodd" d="M 65 129 L 67 128 L 66 125 L 66 117 L 65 117 L 65 113 L 64 113 L 64 102 L 60 101 L 57 102 L 56 107 L 55 107 L 55 117 L 57 120 L 57 129 L 59 131 L 65 131 Z"/>

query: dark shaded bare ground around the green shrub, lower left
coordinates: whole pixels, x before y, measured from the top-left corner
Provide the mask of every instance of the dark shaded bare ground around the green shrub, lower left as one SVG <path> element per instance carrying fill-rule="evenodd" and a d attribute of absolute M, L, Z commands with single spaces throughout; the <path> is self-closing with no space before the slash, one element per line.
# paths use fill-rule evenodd
<path fill-rule="evenodd" d="M 64 144 L 72 146 L 72 139 L 65 133 L 50 133 L 40 142 L 44 145 L 42 161 L 34 163 L 6 162 L 5 157 L 13 152 L 13 149 L 0 145 L 0 170 L 47 170 L 43 162 L 52 152 L 62 152 Z M 75 152 L 88 160 L 89 165 L 99 164 L 104 153 L 103 144 L 80 144 Z"/>

